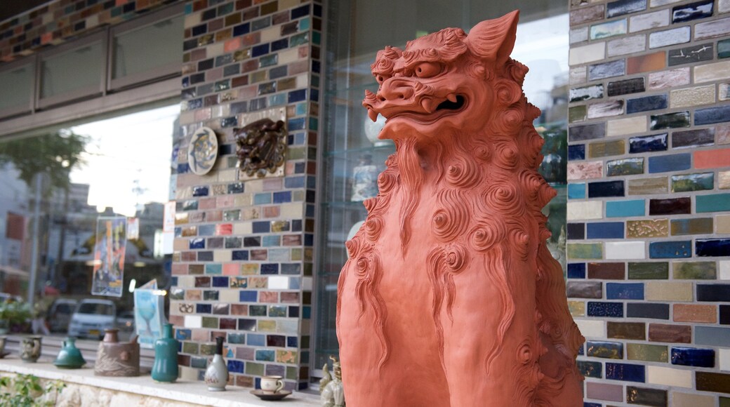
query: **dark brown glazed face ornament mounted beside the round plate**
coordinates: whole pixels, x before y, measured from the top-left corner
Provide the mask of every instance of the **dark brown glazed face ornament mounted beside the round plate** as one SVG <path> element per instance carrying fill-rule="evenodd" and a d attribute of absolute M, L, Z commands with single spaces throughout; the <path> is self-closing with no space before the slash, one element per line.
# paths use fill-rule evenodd
<path fill-rule="evenodd" d="M 248 177 L 275 174 L 284 165 L 288 133 L 282 120 L 261 119 L 233 130 L 238 167 Z"/>

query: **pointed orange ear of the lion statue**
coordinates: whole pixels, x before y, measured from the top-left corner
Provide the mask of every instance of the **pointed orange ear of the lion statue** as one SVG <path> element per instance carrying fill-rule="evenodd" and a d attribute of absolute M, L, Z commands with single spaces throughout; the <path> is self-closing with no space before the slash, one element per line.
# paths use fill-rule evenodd
<path fill-rule="evenodd" d="M 507 62 L 515 47 L 517 20 L 520 11 L 515 10 L 494 20 L 477 24 L 466 36 L 466 44 L 472 53 L 487 61 L 495 61 L 496 66 Z"/>

